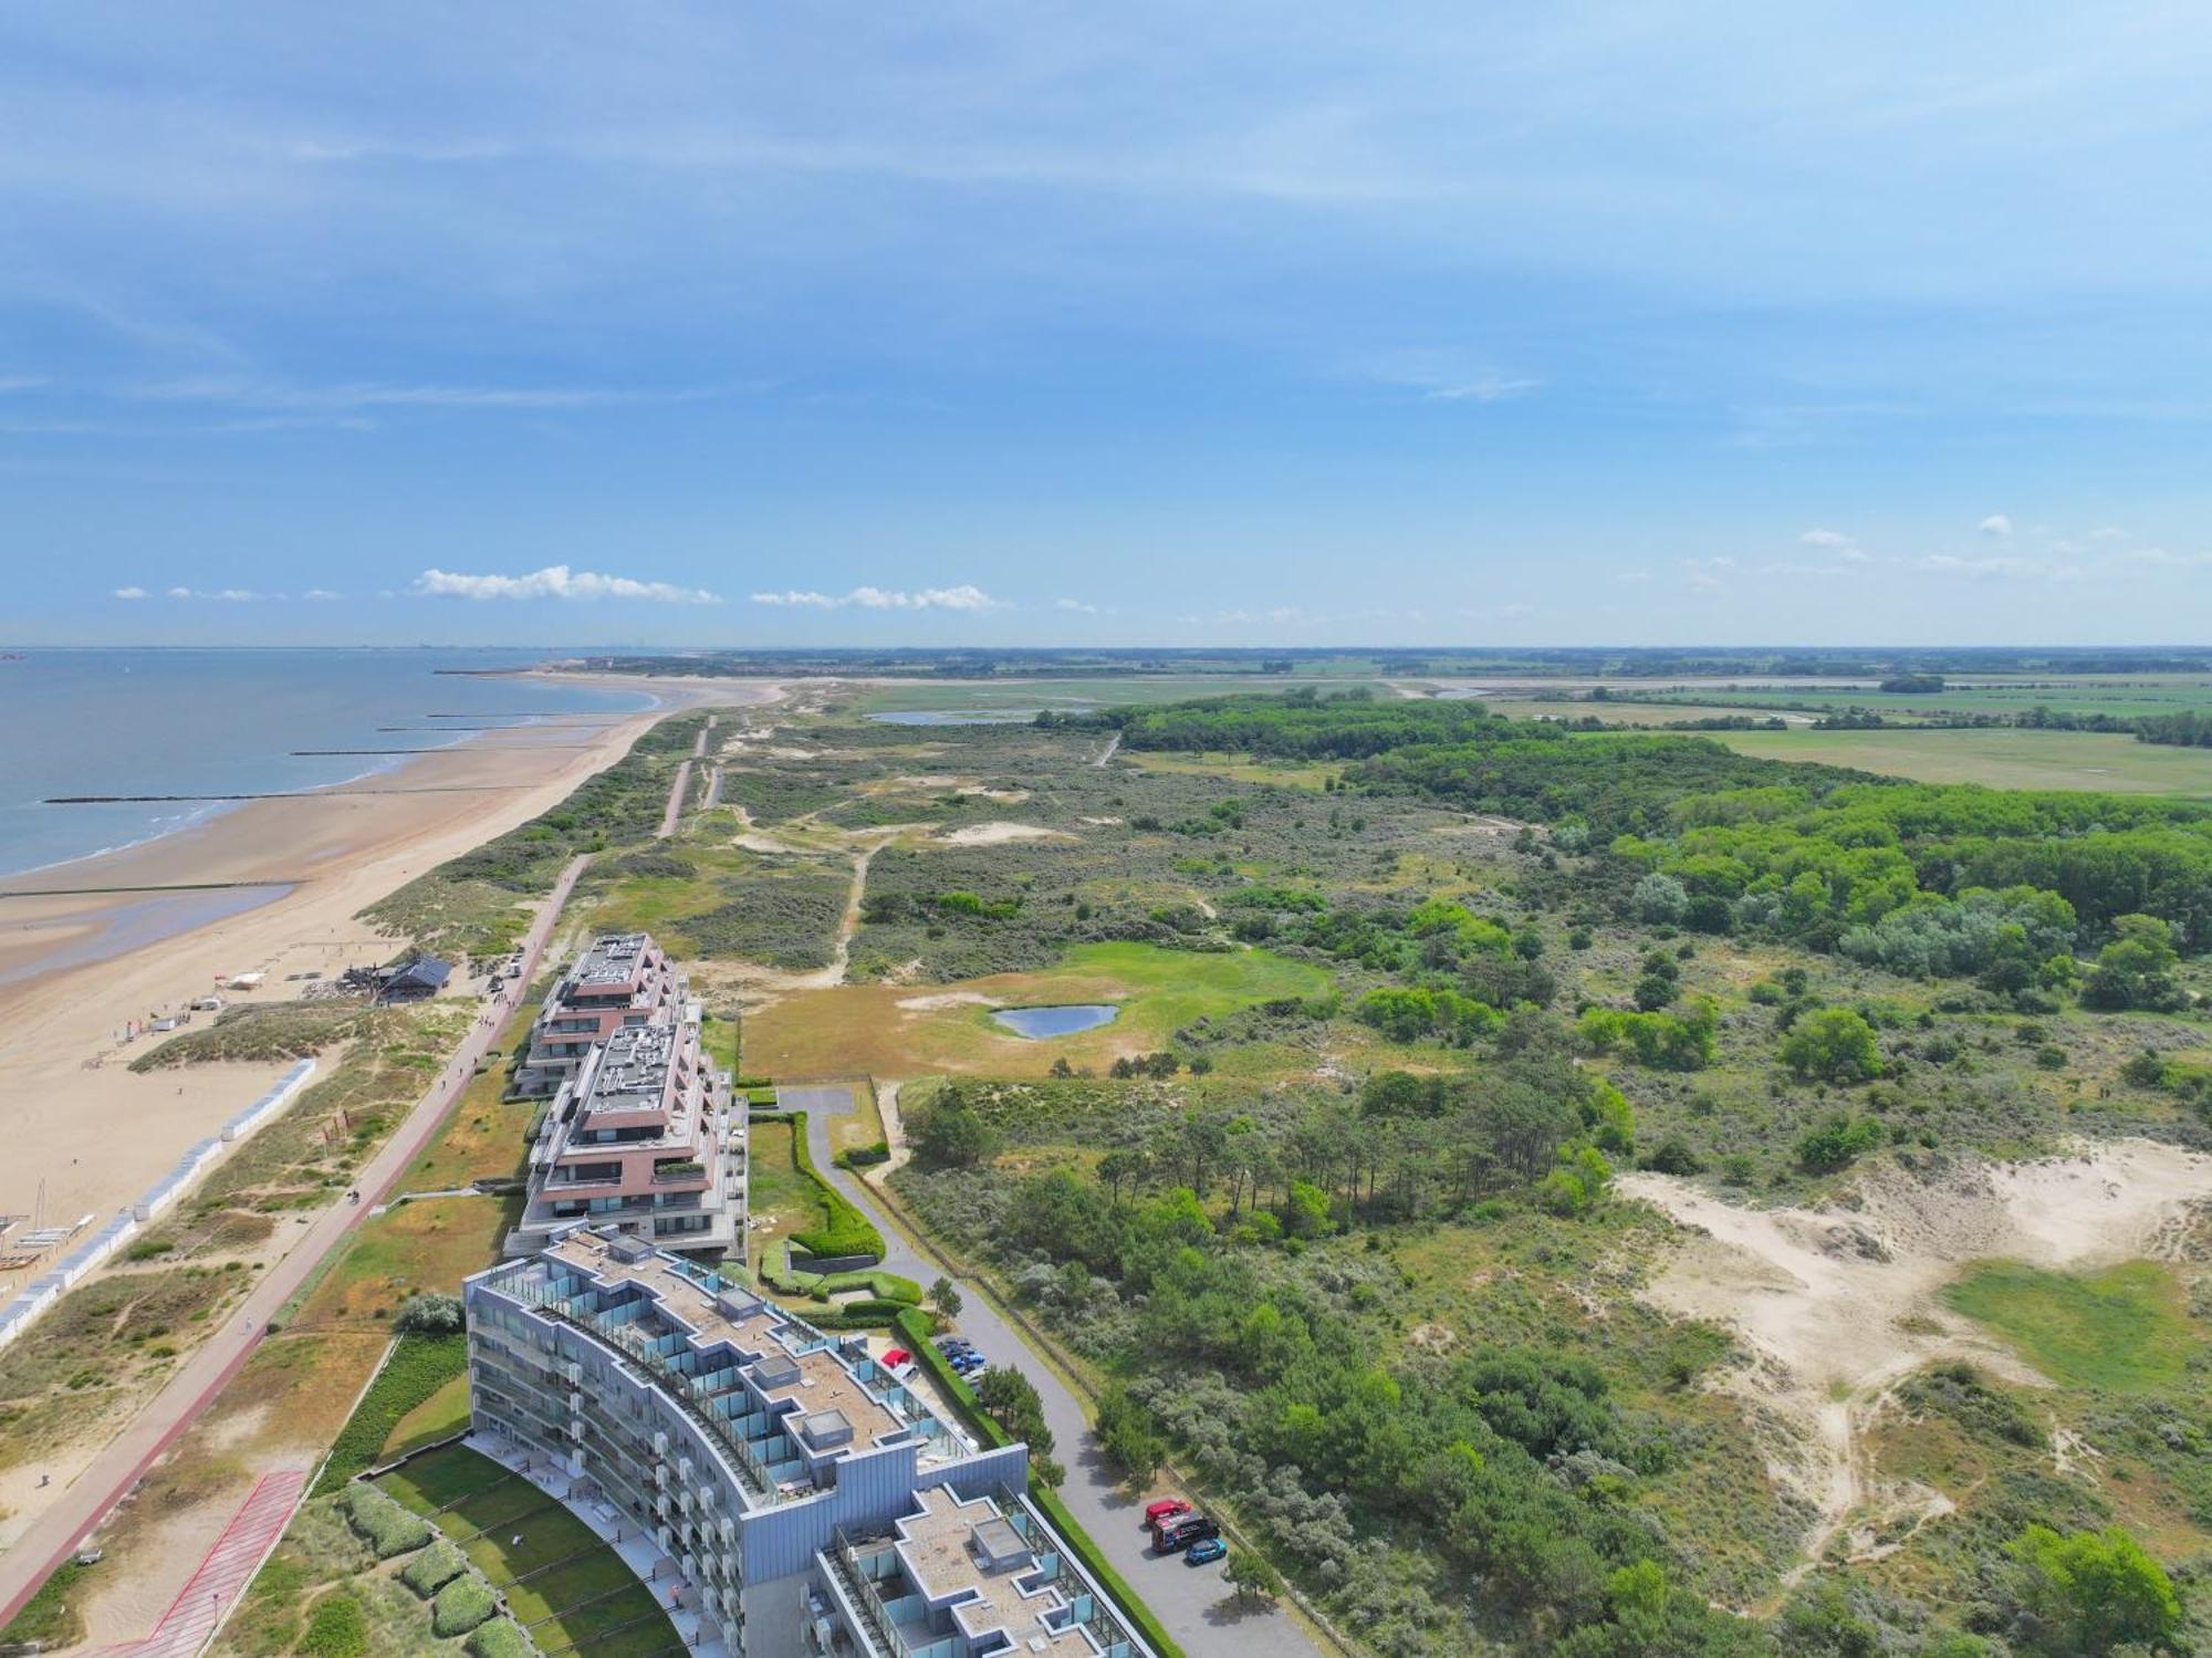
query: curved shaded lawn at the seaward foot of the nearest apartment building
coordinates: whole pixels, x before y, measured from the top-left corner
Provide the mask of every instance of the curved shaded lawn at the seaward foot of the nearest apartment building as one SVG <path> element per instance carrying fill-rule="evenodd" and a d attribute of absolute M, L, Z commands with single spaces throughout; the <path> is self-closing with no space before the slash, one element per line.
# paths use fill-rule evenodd
<path fill-rule="evenodd" d="M 414 1512 L 431 1514 L 460 1543 L 469 1563 L 507 1596 L 540 1651 L 650 1658 L 681 1649 L 653 1592 L 622 1556 L 489 1457 L 465 1446 L 434 1450 L 378 1483 Z"/>

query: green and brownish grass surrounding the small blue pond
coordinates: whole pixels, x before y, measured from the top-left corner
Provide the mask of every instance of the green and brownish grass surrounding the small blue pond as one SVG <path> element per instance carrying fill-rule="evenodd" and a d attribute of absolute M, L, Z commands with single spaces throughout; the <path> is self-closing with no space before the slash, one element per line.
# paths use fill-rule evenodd
<path fill-rule="evenodd" d="M 1316 995 L 1327 982 L 1321 968 L 1267 951 L 1212 955 L 1155 944 L 1079 944 L 1037 973 L 951 986 L 845 984 L 785 997 L 745 1024 L 745 1066 L 785 1079 L 854 1072 L 1042 1077 L 1062 1057 L 1104 1068 L 1117 1054 L 1166 1048 L 1179 1026 L 1201 1015 Z M 1073 1037 L 1024 1041 L 991 1024 L 991 1008 L 978 997 L 1009 1008 L 1115 1001 L 1121 1015 Z"/>

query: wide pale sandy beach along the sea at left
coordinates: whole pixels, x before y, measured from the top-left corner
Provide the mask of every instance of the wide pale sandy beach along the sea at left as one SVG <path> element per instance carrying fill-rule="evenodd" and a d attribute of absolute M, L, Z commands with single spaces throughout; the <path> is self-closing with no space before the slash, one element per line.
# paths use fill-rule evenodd
<path fill-rule="evenodd" d="M 179 1012 L 234 973 L 265 979 L 228 999 L 283 1001 L 301 988 L 288 975 L 387 959 L 394 940 L 354 920 L 365 904 L 553 807 L 657 718 L 781 696 L 761 681 L 617 683 L 661 707 L 487 732 L 327 794 L 243 802 L 142 847 L 0 880 L 0 1214 L 44 1225 L 115 1214 L 281 1072 L 133 1077 L 128 1059 L 148 1039 L 126 1046 L 131 1021 Z M 146 891 L 208 882 L 230 886 Z M 24 1276 L 0 1273 L 0 1298 Z"/>

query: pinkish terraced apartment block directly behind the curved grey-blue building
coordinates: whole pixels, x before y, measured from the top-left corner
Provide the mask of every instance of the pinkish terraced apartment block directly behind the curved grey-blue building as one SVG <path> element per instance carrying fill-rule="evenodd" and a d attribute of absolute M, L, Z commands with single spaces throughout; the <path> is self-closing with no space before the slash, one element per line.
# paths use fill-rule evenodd
<path fill-rule="evenodd" d="M 577 1220 L 714 1256 L 745 1236 L 745 1110 L 690 1008 L 595 1043 L 538 1119 L 507 1253 L 533 1253 Z"/>

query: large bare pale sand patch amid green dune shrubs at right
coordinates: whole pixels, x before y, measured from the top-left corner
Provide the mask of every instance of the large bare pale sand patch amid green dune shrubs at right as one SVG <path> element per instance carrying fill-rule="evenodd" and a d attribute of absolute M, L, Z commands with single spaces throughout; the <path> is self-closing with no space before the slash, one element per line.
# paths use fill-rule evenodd
<path fill-rule="evenodd" d="M 1871 1559 L 1916 1519 L 1949 1512 L 1940 1492 L 1867 1466 L 1867 1426 L 1902 1377 L 1964 1357 L 2011 1382 L 2051 1382 L 1951 1311 L 1944 1287 L 1991 1258 L 2086 1269 L 2174 1256 L 2212 1203 L 2212 1158 L 2152 1141 L 2035 1163 L 1931 1158 L 1867 1174 L 1825 1209 L 1739 1207 L 1666 1174 L 1624 1176 L 1619 1192 L 1686 1229 L 1648 1300 L 1728 1324 L 1752 1351 L 1725 1386 L 1785 1424 L 1767 1452 L 1816 1517 L 1803 1572 L 1838 1536 Z"/>

